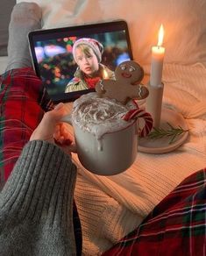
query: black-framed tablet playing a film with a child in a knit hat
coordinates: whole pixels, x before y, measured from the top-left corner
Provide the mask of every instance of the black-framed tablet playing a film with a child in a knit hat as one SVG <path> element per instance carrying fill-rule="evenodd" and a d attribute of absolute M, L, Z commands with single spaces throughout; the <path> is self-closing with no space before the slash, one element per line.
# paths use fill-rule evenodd
<path fill-rule="evenodd" d="M 54 103 L 73 101 L 95 91 L 96 82 L 106 78 L 104 70 L 112 75 L 117 65 L 133 59 L 124 20 L 39 30 L 30 32 L 28 39 L 33 68 Z M 91 49 L 82 49 L 80 54 L 80 42 Z M 85 73 L 83 60 L 88 65 Z"/>

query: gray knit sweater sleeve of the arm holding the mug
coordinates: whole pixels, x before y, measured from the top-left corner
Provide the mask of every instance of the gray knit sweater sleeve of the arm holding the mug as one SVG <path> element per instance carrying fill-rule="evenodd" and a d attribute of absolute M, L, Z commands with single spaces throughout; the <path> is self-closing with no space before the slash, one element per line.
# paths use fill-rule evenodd
<path fill-rule="evenodd" d="M 76 167 L 58 146 L 26 144 L 0 194 L 0 255 L 75 255 Z"/>

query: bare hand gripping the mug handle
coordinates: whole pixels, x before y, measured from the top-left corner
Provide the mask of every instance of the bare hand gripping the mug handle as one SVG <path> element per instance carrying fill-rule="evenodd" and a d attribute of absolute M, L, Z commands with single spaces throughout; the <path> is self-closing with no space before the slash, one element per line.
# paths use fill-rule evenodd
<path fill-rule="evenodd" d="M 62 147 L 66 153 L 75 152 L 72 138 L 67 130 L 67 125 L 61 123 L 62 117 L 67 115 L 67 108 L 59 103 L 54 110 L 45 113 L 38 127 L 32 132 L 30 140 L 46 140 Z"/>

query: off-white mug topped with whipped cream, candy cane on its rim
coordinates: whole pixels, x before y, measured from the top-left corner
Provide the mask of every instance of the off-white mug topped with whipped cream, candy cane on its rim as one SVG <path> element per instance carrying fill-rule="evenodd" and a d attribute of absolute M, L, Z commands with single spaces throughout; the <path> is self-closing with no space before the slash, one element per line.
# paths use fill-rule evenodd
<path fill-rule="evenodd" d="M 114 175 L 131 167 L 136 159 L 139 118 L 145 121 L 140 135 L 146 136 L 153 128 L 153 119 L 137 103 L 124 105 L 89 93 L 75 100 L 71 114 L 62 121 L 74 128 L 82 166 L 94 174 Z"/>

